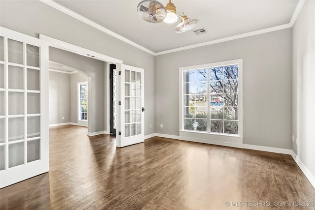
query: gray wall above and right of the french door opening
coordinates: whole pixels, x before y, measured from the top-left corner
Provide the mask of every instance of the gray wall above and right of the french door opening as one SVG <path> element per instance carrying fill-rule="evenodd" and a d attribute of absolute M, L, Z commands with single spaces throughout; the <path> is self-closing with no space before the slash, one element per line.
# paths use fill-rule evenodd
<path fill-rule="evenodd" d="M 105 11 L 104 11 L 105 12 Z M 96 30 L 40 1 L 0 1 L 0 26 L 44 34 L 145 69 L 145 134 L 155 133 L 154 56 Z M 96 90 L 97 91 L 97 90 Z M 149 124 L 153 125 L 150 129 Z M 102 131 L 95 129 L 94 131 Z"/>

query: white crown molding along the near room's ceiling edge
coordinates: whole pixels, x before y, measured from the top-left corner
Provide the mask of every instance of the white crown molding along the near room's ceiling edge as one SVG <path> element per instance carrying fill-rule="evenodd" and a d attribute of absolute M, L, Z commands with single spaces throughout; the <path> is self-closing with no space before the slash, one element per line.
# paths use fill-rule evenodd
<path fill-rule="evenodd" d="M 79 15 L 78 13 L 60 5 L 59 3 L 53 1 L 53 0 L 39 0 L 83 23 L 86 23 L 92 27 L 94 27 L 97 30 L 101 30 L 104 33 L 107 33 L 121 41 L 126 42 L 127 44 L 130 44 L 140 50 L 143 50 L 153 56 L 159 56 L 159 55 L 164 55 L 164 54 L 168 54 L 168 53 L 174 53 L 174 52 L 178 52 L 178 51 L 183 51 L 183 50 L 188 50 L 188 49 L 192 49 L 192 48 L 197 48 L 197 47 L 203 47 L 203 46 L 207 46 L 207 45 L 212 45 L 212 44 L 217 44 L 217 43 L 221 43 L 221 42 L 225 42 L 225 41 L 231 41 L 231 40 L 235 40 L 235 39 L 240 39 L 240 38 L 245 38 L 245 37 L 249 37 L 249 36 L 253 36 L 253 35 L 258 35 L 258 34 L 262 34 L 262 33 L 268 33 L 268 32 L 272 32 L 272 31 L 276 31 L 276 30 L 283 30 L 283 29 L 288 29 L 293 27 L 296 19 L 298 18 L 298 15 L 303 7 L 303 4 L 305 2 L 305 0 L 299 0 L 299 2 L 297 3 L 295 10 L 293 12 L 293 15 L 291 17 L 291 20 L 289 23 L 287 24 L 283 24 L 280 26 L 275 26 L 275 27 L 271 27 L 271 28 L 267 28 L 267 29 L 262 29 L 262 30 L 255 30 L 255 31 L 251 31 L 251 32 L 247 32 L 247 33 L 242 33 L 242 34 L 238 34 L 238 35 L 234 35 L 234 36 L 228 36 L 228 37 L 224 37 L 224 38 L 220 38 L 220 39 L 215 39 L 215 40 L 211 40 L 211 41 L 207 41 L 207 42 L 202 42 L 202 43 L 198 43 L 198 44 L 193 44 L 193 45 L 189 45 L 189 46 L 185 46 L 185 47 L 179 47 L 179 48 L 174 48 L 171 50 L 165 50 L 165 51 L 161 51 L 161 52 L 153 52 L 127 38 L 125 38 L 124 36 L 121 36 L 109 29 L 106 29 L 105 27 L 83 17 L 82 15 Z"/>

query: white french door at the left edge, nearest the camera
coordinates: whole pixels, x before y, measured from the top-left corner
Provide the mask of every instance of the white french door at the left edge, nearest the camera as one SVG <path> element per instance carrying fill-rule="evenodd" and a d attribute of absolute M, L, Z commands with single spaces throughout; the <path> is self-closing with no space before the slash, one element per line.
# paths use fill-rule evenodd
<path fill-rule="evenodd" d="M 49 170 L 48 45 L 0 27 L 0 188 Z"/>

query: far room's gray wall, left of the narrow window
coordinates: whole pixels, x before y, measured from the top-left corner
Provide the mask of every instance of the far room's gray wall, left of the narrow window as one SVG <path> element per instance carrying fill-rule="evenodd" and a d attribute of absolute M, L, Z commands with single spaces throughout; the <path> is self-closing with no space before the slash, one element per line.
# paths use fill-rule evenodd
<path fill-rule="evenodd" d="M 70 122 L 70 74 L 49 71 L 49 124 L 66 122 Z"/>

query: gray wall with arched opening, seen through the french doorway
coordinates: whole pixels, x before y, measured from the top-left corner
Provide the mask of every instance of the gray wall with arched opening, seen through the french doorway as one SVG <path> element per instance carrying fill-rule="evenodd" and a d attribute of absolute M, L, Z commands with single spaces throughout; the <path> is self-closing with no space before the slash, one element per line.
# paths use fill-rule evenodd
<path fill-rule="evenodd" d="M 92 120 L 92 127 L 88 128 L 88 132 L 97 132 L 105 130 L 104 118 L 104 97 L 105 97 L 105 62 L 91 59 L 78 54 L 70 53 L 57 48 L 49 47 L 49 60 L 63 63 L 67 66 L 76 68 L 87 76 L 91 76 L 92 95 L 92 113 L 89 113 L 89 118 Z M 70 81 L 69 81 L 70 83 Z M 70 88 L 69 88 L 70 90 Z M 90 101 L 91 102 L 91 101 Z"/>

